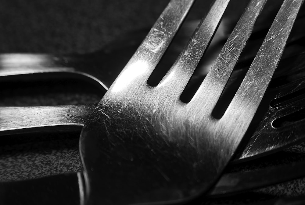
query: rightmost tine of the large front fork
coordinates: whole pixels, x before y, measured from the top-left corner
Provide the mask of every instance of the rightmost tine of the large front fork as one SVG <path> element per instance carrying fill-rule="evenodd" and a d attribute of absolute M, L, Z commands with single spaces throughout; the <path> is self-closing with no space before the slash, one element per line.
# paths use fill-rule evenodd
<path fill-rule="evenodd" d="M 285 0 L 283 2 L 249 71 L 224 116 L 220 119 L 222 123 L 235 123 L 235 120 L 231 119 L 245 119 L 240 121 L 239 130 L 247 129 L 282 56 L 302 3 L 303 0 Z M 228 119 L 230 120 L 228 121 Z M 235 126 L 232 125 L 232 127 Z"/>

